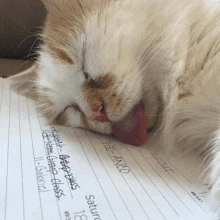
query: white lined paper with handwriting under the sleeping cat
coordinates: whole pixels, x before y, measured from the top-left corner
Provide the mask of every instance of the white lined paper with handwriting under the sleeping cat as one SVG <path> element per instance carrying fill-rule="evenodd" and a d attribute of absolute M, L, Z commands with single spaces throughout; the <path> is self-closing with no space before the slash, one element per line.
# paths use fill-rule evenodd
<path fill-rule="evenodd" d="M 207 187 L 154 144 L 48 125 L 35 101 L 0 78 L 0 219 L 219 219 Z"/>

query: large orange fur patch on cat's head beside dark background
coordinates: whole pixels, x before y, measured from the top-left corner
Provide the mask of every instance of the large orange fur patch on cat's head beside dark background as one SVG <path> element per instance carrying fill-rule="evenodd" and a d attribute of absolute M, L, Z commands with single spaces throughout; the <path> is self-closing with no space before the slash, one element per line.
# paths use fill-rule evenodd
<path fill-rule="evenodd" d="M 46 5 L 48 16 L 42 33 L 50 54 L 65 64 L 73 64 L 77 34 L 84 30 L 85 12 L 78 1 L 56 1 Z"/>

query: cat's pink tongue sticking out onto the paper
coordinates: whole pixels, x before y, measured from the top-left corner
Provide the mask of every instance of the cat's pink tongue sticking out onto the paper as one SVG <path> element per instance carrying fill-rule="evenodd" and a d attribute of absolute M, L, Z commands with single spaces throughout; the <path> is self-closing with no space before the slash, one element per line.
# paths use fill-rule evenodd
<path fill-rule="evenodd" d="M 140 102 L 122 121 L 112 122 L 112 131 L 125 143 L 141 146 L 148 140 L 146 123 L 147 117 Z"/>

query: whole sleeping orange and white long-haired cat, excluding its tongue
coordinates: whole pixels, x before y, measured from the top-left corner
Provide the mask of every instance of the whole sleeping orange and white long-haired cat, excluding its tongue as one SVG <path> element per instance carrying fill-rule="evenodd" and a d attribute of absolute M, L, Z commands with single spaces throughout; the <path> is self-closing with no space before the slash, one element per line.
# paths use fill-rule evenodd
<path fill-rule="evenodd" d="M 51 123 L 111 134 L 143 103 L 163 146 L 206 152 L 220 206 L 220 9 L 191 0 L 43 0 L 36 63 L 11 78 Z M 108 120 L 96 117 L 105 113 Z"/>

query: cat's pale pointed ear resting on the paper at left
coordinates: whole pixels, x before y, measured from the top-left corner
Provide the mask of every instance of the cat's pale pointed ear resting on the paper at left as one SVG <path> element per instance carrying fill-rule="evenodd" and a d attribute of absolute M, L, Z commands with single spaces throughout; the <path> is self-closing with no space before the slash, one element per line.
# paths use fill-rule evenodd
<path fill-rule="evenodd" d="M 37 77 L 37 63 L 35 63 L 29 69 L 9 78 L 11 88 L 18 94 L 26 95 L 31 98 L 36 98 L 37 87 L 35 82 Z"/>

